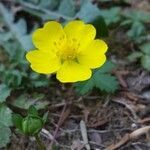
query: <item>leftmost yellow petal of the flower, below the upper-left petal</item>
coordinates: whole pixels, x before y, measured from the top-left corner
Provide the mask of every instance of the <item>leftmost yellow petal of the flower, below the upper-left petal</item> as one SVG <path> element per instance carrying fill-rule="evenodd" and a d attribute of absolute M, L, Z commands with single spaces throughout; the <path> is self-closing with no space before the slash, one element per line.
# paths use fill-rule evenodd
<path fill-rule="evenodd" d="M 51 52 L 33 50 L 26 54 L 26 59 L 37 73 L 50 74 L 60 68 L 59 58 Z"/>

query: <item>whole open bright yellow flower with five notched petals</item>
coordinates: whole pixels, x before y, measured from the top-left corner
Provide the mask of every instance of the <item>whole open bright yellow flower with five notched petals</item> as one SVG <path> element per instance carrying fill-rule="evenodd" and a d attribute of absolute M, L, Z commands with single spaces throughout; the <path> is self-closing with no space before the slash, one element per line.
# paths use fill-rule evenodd
<path fill-rule="evenodd" d="M 31 68 L 38 73 L 56 73 L 61 82 L 77 82 L 91 77 L 91 69 L 106 61 L 107 45 L 95 39 L 91 24 L 71 21 L 64 28 L 56 21 L 47 22 L 32 36 L 37 49 L 26 54 Z"/>

